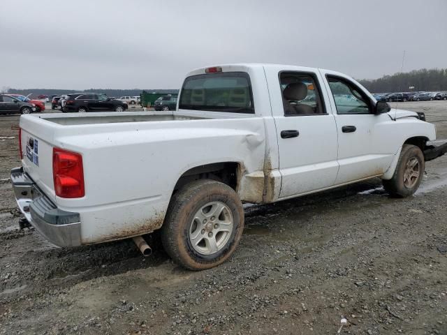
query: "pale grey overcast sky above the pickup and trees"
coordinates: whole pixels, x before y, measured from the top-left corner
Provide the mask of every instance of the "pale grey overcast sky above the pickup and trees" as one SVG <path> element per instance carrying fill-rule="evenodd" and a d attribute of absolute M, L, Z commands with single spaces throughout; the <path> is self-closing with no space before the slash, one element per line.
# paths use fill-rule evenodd
<path fill-rule="evenodd" d="M 358 79 L 447 68 L 446 0 L 14 0 L 0 5 L 0 90 L 177 89 L 235 62 Z"/>

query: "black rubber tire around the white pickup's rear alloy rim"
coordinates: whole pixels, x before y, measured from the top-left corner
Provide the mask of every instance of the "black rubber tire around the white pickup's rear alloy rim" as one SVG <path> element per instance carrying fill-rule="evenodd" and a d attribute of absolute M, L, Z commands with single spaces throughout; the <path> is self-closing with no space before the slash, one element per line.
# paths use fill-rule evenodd
<path fill-rule="evenodd" d="M 189 234 L 194 225 L 194 217 L 210 202 L 223 203 L 230 209 L 233 228 L 228 240 L 217 252 L 204 255 L 193 248 Z M 201 179 L 186 184 L 173 195 L 161 228 L 161 241 L 166 253 L 174 262 L 186 269 L 198 271 L 225 262 L 239 244 L 242 230 L 244 230 L 244 210 L 233 188 L 219 181 Z M 205 230 L 202 230 L 202 234 L 203 231 Z"/>

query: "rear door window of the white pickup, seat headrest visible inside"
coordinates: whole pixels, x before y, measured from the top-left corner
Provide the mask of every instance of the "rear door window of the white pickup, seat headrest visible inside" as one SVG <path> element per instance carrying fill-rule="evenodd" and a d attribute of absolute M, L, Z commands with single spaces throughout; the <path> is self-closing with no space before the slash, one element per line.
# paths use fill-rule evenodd
<path fill-rule="evenodd" d="M 316 77 L 310 73 L 286 72 L 279 75 L 284 115 L 325 114 Z"/>

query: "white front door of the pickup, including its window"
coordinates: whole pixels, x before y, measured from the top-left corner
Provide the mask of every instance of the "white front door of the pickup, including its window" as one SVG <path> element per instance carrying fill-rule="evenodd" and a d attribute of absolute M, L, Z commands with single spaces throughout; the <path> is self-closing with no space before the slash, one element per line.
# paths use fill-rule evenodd
<path fill-rule="evenodd" d="M 358 85 L 339 75 L 326 75 L 338 132 L 339 173 L 346 184 L 388 170 L 395 153 L 390 116 L 374 114 L 374 101 Z"/>

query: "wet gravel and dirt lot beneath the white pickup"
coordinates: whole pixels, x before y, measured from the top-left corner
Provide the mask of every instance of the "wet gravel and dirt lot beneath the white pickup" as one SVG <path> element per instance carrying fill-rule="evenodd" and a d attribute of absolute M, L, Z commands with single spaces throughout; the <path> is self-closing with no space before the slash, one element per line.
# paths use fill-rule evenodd
<path fill-rule="evenodd" d="M 447 103 L 399 103 L 447 138 Z M 8 180 L 18 117 L 0 117 L 0 334 L 447 334 L 447 157 L 412 198 L 379 179 L 246 209 L 233 258 L 191 272 L 154 234 L 57 248 L 20 217 Z M 14 137 L 14 138 L 11 138 Z"/>

